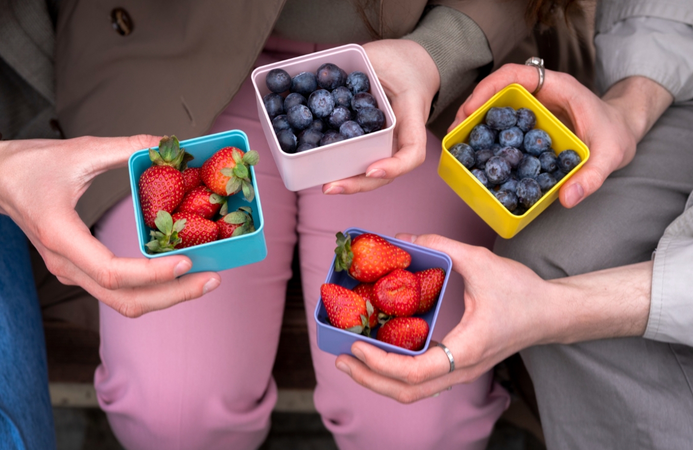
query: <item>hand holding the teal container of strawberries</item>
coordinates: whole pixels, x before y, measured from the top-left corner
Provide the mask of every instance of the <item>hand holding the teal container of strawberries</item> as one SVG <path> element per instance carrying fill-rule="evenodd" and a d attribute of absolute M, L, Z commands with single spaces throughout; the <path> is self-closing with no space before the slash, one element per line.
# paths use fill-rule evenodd
<path fill-rule="evenodd" d="M 216 273 L 193 273 L 185 256 L 116 258 L 89 232 L 75 205 L 96 175 L 123 167 L 154 136 L 0 142 L 0 212 L 24 231 L 51 273 L 80 285 L 124 316 L 137 317 L 202 296 Z"/>

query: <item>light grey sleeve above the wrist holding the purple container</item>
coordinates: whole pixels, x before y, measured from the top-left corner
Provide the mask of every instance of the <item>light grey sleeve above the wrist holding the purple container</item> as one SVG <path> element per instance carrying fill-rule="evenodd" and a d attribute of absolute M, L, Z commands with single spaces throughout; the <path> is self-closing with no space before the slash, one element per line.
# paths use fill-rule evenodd
<path fill-rule="evenodd" d="M 665 231 L 654 257 L 644 338 L 693 346 L 693 208 Z"/>

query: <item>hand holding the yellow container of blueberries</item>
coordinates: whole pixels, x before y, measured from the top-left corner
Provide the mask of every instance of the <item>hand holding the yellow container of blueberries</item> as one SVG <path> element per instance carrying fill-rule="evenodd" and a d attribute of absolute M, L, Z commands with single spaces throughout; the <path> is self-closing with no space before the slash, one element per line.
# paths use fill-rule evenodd
<path fill-rule="evenodd" d="M 484 78 L 459 107 L 451 131 L 508 84 L 536 89 L 536 67 L 506 64 Z M 537 100 L 565 123 L 590 149 L 590 159 L 559 192 L 561 204 L 572 208 L 593 194 L 614 170 L 635 156 L 635 146 L 672 103 L 672 95 L 644 77 L 621 80 L 598 98 L 572 76 L 546 71 Z"/>

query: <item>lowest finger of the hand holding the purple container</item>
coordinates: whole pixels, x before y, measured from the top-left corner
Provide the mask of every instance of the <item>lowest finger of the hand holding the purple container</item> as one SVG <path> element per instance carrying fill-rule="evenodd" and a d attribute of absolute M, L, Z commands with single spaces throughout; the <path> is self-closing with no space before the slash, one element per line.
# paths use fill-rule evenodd
<path fill-rule="evenodd" d="M 340 370 L 344 371 L 344 368 L 346 368 L 347 374 L 358 384 L 404 404 L 431 397 L 446 390 L 454 383 L 454 379 L 451 376 L 453 374 L 448 374 L 422 384 L 406 384 L 403 381 L 373 372 L 364 363 L 346 354 L 337 357 L 335 364 Z"/>

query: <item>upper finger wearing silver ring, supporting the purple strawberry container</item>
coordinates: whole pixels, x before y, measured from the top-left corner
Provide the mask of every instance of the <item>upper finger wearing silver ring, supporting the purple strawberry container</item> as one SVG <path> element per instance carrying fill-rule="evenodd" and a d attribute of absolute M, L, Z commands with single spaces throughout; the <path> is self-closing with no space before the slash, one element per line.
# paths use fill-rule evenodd
<path fill-rule="evenodd" d="M 448 357 L 438 347 L 416 357 L 407 357 L 357 341 L 351 345 L 351 352 L 374 372 L 406 384 L 421 384 L 450 371 Z"/>

